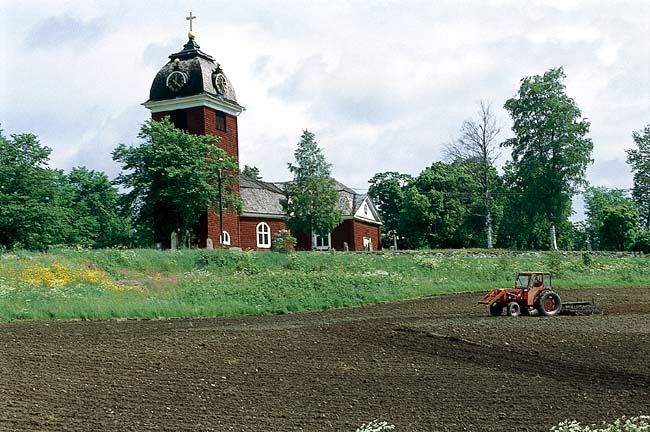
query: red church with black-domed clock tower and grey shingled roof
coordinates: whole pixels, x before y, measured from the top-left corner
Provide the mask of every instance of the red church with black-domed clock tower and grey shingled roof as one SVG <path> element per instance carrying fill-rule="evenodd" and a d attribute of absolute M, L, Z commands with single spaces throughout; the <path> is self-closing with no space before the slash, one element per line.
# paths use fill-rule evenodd
<path fill-rule="evenodd" d="M 158 71 L 151 84 L 149 100 L 143 105 L 154 120 L 169 116 L 179 129 L 196 135 L 215 135 L 216 144 L 239 162 L 238 116 L 244 107 L 237 101 L 232 83 L 221 65 L 201 51 L 192 33 L 179 52 Z M 327 236 L 299 235 L 297 249 L 372 251 L 380 247 L 381 221 L 370 197 L 358 194 L 336 182 L 337 207 L 342 222 Z M 284 183 L 270 183 L 240 175 L 231 185 L 239 194 L 242 208 L 238 213 L 207 210 L 197 223 L 194 237 L 200 247 L 269 250 L 274 234 L 286 230 L 286 214 L 281 200 Z M 221 231 L 221 235 L 220 235 Z M 169 235 L 156 233 L 156 241 Z"/>

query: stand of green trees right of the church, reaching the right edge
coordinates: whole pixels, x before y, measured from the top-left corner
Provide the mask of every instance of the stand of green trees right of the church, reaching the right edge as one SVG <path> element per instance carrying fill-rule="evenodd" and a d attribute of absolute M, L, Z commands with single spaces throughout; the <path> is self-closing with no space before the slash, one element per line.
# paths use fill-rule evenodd
<path fill-rule="evenodd" d="M 482 102 L 459 137 L 418 176 L 383 172 L 370 180 L 385 241 L 400 248 L 487 247 L 650 251 L 650 124 L 627 150 L 632 194 L 588 185 L 590 124 L 565 93 L 564 71 L 522 79 L 504 107 L 514 136 L 498 141 Z M 511 151 L 499 173 L 501 149 Z M 586 220 L 572 223 L 572 199 L 584 194 Z"/>

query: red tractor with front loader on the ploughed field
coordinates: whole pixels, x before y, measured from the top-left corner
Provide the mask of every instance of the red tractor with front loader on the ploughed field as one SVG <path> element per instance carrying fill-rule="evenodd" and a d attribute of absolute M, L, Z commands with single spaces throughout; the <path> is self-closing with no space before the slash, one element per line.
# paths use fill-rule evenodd
<path fill-rule="evenodd" d="M 548 272 L 520 272 L 514 288 L 494 288 L 479 304 L 490 306 L 490 314 L 499 316 L 505 308 L 508 316 L 528 315 L 537 310 L 541 316 L 554 316 L 562 310 L 562 300 L 551 286 Z"/>

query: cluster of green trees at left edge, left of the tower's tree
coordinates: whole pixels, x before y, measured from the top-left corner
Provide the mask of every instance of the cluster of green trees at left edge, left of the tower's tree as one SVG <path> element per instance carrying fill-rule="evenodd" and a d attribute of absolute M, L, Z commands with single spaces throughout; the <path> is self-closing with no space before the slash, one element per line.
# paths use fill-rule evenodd
<path fill-rule="evenodd" d="M 0 130 L 0 248 L 107 247 L 126 241 L 128 218 L 106 174 L 48 166 L 51 149 L 33 134 Z"/>

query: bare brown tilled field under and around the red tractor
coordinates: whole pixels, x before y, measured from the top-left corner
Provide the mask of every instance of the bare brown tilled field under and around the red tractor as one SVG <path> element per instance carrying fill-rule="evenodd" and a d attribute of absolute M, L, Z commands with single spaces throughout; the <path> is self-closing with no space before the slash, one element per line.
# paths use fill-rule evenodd
<path fill-rule="evenodd" d="M 0 429 L 548 431 L 650 414 L 650 289 L 594 316 L 480 294 L 284 316 L 0 324 Z"/>

